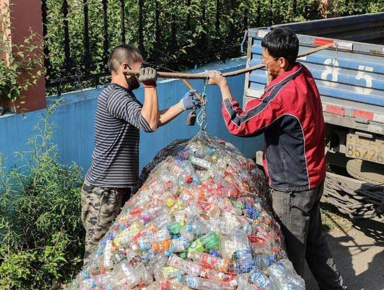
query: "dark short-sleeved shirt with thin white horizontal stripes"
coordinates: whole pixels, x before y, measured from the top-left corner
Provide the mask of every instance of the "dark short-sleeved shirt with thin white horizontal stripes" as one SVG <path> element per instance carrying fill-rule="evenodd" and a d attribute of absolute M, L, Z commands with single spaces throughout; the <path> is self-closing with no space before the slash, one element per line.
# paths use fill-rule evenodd
<path fill-rule="evenodd" d="M 95 147 L 85 181 L 96 187 L 135 187 L 140 129 L 152 132 L 131 90 L 110 84 L 97 101 Z"/>

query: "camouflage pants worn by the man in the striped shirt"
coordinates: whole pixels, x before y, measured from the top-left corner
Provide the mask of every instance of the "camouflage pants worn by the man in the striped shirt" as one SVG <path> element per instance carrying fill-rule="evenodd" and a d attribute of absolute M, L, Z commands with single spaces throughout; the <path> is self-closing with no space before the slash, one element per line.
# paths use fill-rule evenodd
<path fill-rule="evenodd" d="M 82 184 L 82 224 L 87 232 L 84 265 L 130 197 L 131 188 L 101 188 L 87 182 Z"/>

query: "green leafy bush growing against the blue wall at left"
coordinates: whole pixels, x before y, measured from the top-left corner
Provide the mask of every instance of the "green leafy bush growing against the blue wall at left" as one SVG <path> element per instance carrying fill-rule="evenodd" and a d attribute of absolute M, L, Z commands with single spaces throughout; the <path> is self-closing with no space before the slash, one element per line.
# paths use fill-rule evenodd
<path fill-rule="evenodd" d="M 6 172 L 0 157 L 0 289 L 51 289 L 82 266 L 82 169 L 59 164 L 53 110 L 36 126 L 31 150 L 17 153 L 27 165 Z"/>

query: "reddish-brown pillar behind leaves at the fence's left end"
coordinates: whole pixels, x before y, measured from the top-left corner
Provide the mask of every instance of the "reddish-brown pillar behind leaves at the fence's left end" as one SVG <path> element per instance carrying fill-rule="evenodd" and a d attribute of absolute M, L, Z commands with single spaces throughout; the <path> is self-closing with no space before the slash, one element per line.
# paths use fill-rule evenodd
<path fill-rule="evenodd" d="M 37 42 L 42 43 L 43 38 L 43 22 L 41 14 L 41 1 L 40 0 L 0 0 L 0 8 L 4 4 L 10 7 L 10 41 L 13 44 L 22 44 L 24 38 L 30 35 L 30 31 L 34 31 L 38 35 Z M 1 33 L 3 27 L 0 27 Z M 0 56 L 7 59 L 7 56 Z M 43 50 L 39 53 L 38 57 L 43 58 Z M 41 68 L 40 68 L 41 69 Z M 36 68 L 38 71 L 38 68 Z M 36 85 L 29 87 L 27 92 L 23 93 L 25 103 L 16 101 L 15 105 L 18 106 L 17 113 L 30 112 L 45 108 L 45 78 L 44 73 L 38 79 Z"/>

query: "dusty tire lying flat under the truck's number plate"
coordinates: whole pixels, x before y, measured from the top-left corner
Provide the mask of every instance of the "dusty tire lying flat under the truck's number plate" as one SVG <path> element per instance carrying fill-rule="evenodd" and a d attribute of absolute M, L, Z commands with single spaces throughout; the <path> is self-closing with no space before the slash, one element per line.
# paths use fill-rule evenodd
<path fill-rule="evenodd" d="M 373 184 L 384 183 L 384 166 L 361 159 L 350 159 L 347 162 L 348 173 L 357 180 Z"/>

